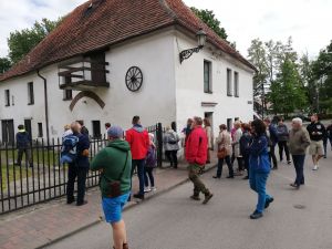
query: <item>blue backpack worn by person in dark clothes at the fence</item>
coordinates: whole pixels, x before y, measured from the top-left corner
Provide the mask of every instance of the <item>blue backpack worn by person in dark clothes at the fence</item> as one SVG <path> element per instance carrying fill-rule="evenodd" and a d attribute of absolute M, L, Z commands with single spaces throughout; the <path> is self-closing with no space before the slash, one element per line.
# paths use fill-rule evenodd
<path fill-rule="evenodd" d="M 62 141 L 62 149 L 61 149 L 61 164 L 71 164 L 77 157 L 77 143 L 79 137 L 75 135 L 68 135 Z"/>

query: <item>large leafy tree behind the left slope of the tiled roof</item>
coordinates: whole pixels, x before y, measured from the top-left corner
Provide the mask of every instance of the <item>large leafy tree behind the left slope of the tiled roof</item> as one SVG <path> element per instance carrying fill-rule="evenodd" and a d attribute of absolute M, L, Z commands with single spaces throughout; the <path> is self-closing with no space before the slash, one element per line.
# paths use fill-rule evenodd
<path fill-rule="evenodd" d="M 61 23 L 61 21 L 62 19 L 56 21 L 42 19 L 41 22 L 35 21 L 31 29 L 11 32 L 8 39 L 9 59 L 11 62 L 19 62 L 52 30 L 54 30 Z"/>

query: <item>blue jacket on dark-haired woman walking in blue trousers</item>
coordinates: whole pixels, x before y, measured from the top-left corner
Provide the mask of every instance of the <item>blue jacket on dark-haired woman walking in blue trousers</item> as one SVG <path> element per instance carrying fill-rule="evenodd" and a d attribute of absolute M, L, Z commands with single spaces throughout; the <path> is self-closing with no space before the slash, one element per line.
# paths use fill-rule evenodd
<path fill-rule="evenodd" d="M 271 163 L 269 158 L 268 138 L 266 135 L 253 136 L 250 145 L 249 157 L 250 170 L 257 173 L 270 173 Z"/>

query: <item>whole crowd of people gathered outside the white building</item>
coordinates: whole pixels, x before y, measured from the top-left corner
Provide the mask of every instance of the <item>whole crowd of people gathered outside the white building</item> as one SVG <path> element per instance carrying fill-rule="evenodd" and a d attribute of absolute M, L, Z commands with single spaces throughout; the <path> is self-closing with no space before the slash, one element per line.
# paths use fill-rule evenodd
<path fill-rule="evenodd" d="M 105 129 L 110 143 L 91 162 L 89 131 L 82 122 L 66 125 L 62 137 L 61 163 L 69 165 L 66 203 L 85 205 L 87 172 L 98 170 L 102 207 L 105 220 L 112 225 L 116 249 L 128 248 L 122 209 L 132 198 L 134 170 L 137 172 L 139 183 L 139 190 L 133 194 L 134 198 L 144 200 L 146 193 L 156 190 L 153 174 L 156 167 L 154 134 L 149 134 L 142 126 L 139 116 L 134 116 L 132 124 L 132 128 L 124 132 L 122 127 L 106 123 Z M 249 179 L 250 188 L 258 196 L 257 206 L 250 218 L 258 219 L 274 200 L 268 194 L 266 186 L 270 170 L 278 169 L 276 146 L 279 147 L 280 162 L 286 154 L 287 164 L 293 163 L 295 179 L 290 186 L 299 189 L 304 185 L 303 166 L 307 148 L 310 147 L 309 153 L 312 155 L 312 169 L 318 170 L 320 159 L 326 157 L 329 141 L 332 147 L 332 124 L 325 128 L 317 115 L 311 116 L 311 124 L 307 128 L 303 127 L 301 118 L 293 118 L 290 129 L 282 118 L 277 125 L 272 124 L 270 118 L 255 120 L 247 124 L 237 121 L 230 132 L 227 125 L 219 125 L 219 134 L 215 139 L 209 120 L 195 116 L 188 118 L 183 136 L 183 146 L 180 146 L 180 136 L 172 127 L 167 127 L 163 143 L 166 158 L 173 168 L 178 167 L 178 151 L 184 147 L 188 163 L 188 177 L 194 185 L 190 198 L 198 201 L 203 194 L 204 205 L 212 198 L 214 194 L 204 184 L 200 174 L 205 165 L 210 164 L 210 154 L 216 148 L 218 164 L 214 178 L 221 178 L 222 165 L 226 162 L 228 166 L 226 178 L 242 176 L 245 180 Z M 21 166 L 22 155 L 25 153 L 30 167 L 33 167 L 30 142 L 29 133 L 23 125 L 20 125 L 17 134 L 18 166 Z M 234 169 L 236 162 L 238 167 Z M 77 181 L 76 198 L 74 197 L 75 180 Z"/>

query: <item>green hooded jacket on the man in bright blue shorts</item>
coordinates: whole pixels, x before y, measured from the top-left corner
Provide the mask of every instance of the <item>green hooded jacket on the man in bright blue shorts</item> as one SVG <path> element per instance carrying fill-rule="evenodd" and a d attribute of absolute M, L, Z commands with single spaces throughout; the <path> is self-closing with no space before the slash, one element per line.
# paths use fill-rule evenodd
<path fill-rule="evenodd" d="M 125 165 L 126 162 L 126 165 Z M 90 166 L 91 170 L 103 169 L 100 188 L 103 197 L 107 197 L 108 183 L 120 180 L 122 195 L 131 190 L 132 154 L 126 141 L 117 139 L 98 152 Z M 124 170 L 124 172 L 123 172 Z M 121 173 L 123 172 L 122 177 Z"/>

